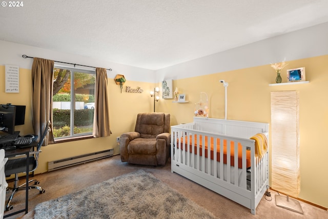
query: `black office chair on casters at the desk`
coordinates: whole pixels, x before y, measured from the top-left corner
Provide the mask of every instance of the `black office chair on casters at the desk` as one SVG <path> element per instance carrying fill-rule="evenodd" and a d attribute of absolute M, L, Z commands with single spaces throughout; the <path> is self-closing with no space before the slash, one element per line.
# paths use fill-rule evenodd
<path fill-rule="evenodd" d="M 29 172 L 33 172 L 37 168 L 38 156 L 39 156 L 39 153 L 41 152 L 40 148 L 41 148 L 43 142 L 45 141 L 45 137 L 47 135 L 48 129 L 49 129 L 49 123 L 47 124 L 42 136 L 40 137 L 40 140 L 36 146 L 36 151 L 31 152 L 30 156 L 28 157 L 29 158 Z M 11 174 L 15 174 L 15 180 L 14 180 L 13 187 L 7 188 L 7 191 L 12 191 L 12 193 L 7 202 L 6 211 L 12 210 L 14 208 L 14 206 L 10 205 L 10 203 L 11 203 L 11 200 L 12 200 L 15 192 L 17 192 L 19 190 L 26 190 L 26 187 L 25 187 L 26 183 L 18 186 L 18 173 L 26 172 L 26 159 L 27 159 L 26 156 L 20 157 L 20 158 L 14 158 L 12 160 L 8 160 L 5 165 L 6 177 L 9 177 Z M 40 194 L 46 192 L 46 190 L 44 190 L 42 187 L 36 186 L 39 184 L 39 181 L 30 180 L 28 183 L 30 184 L 32 182 L 34 182 L 34 186 L 27 185 L 29 187 L 29 189 L 38 189 Z"/>

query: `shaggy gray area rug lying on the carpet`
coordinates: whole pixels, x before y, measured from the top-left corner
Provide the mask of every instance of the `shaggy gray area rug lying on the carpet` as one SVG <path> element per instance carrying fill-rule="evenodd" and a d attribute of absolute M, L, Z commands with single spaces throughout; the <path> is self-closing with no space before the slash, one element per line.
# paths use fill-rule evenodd
<path fill-rule="evenodd" d="M 40 203 L 35 219 L 216 218 L 144 170 Z"/>

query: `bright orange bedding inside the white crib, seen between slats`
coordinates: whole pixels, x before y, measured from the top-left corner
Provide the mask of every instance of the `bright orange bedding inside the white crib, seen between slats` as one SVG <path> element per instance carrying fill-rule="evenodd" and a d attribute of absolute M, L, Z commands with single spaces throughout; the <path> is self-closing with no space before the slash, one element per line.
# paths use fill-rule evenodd
<path fill-rule="evenodd" d="M 190 145 L 188 147 L 188 136 L 186 137 L 186 147 L 183 147 L 183 139 L 182 137 L 180 138 L 182 150 L 186 150 L 189 152 L 192 152 L 192 135 L 190 135 Z M 194 141 L 195 141 L 195 154 L 197 154 L 197 135 L 194 135 Z M 214 139 L 213 137 L 211 137 L 211 160 L 214 160 L 214 153 L 213 153 L 213 142 Z M 200 148 L 200 156 L 202 156 L 202 136 L 199 135 L 199 148 Z M 178 147 L 179 148 L 179 147 Z M 217 138 L 217 152 L 216 152 L 216 159 L 218 162 L 220 162 L 220 139 Z M 231 166 L 235 166 L 235 159 L 234 159 L 234 142 L 230 143 L 230 165 Z M 240 143 L 238 143 L 238 168 L 242 168 L 242 146 L 240 145 Z M 247 150 L 246 151 L 246 167 L 249 168 L 251 167 L 251 151 Z M 205 157 L 208 157 L 208 136 L 205 136 Z M 227 140 L 223 140 L 223 163 L 227 164 Z"/>

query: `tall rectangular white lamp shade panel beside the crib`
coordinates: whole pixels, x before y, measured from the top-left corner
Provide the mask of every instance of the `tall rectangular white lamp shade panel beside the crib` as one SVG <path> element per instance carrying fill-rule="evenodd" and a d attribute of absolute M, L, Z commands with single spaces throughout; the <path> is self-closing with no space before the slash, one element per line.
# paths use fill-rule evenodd
<path fill-rule="evenodd" d="M 271 145 L 272 188 L 298 197 L 300 158 L 297 91 L 271 92 Z"/>

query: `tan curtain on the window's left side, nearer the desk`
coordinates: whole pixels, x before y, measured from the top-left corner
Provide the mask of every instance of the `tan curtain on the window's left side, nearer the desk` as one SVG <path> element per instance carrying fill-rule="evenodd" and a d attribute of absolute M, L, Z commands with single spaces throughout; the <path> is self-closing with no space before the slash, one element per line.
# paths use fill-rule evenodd
<path fill-rule="evenodd" d="M 32 107 L 34 133 L 41 136 L 50 121 L 51 131 L 48 132 L 44 146 L 53 143 L 52 134 L 52 95 L 53 95 L 54 61 L 33 58 L 32 64 Z M 39 139 L 38 139 L 39 140 Z"/>

